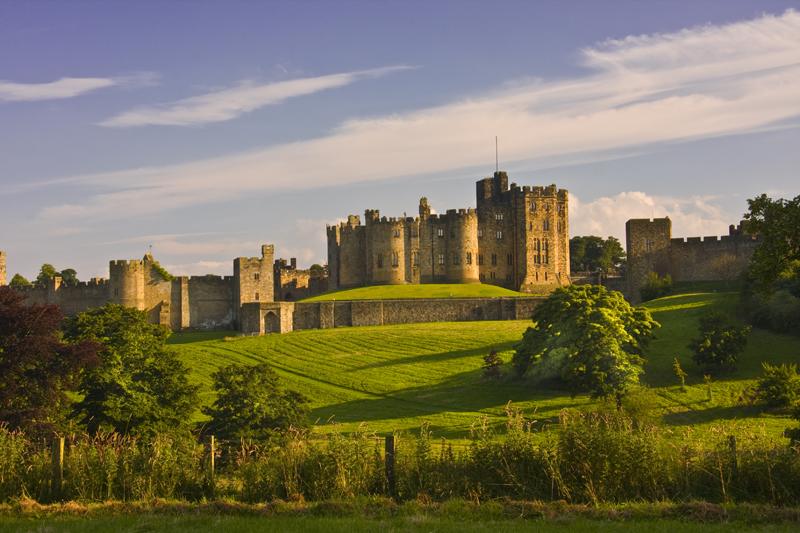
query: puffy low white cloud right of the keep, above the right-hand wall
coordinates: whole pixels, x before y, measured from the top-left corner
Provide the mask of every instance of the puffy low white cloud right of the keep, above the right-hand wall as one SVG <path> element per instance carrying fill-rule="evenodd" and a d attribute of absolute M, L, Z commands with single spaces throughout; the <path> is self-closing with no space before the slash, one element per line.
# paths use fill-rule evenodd
<path fill-rule="evenodd" d="M 631 218 L 668 216 L 674 237 L 727 235 L 731 222 L 713 203 L 714 198 L 650 196 L 640 191 L 621 192 L 583 203 L 570 194 L 570 234 L 616 237 L 625 243 L 625 222 Z"/>

